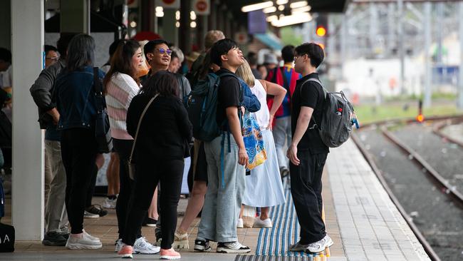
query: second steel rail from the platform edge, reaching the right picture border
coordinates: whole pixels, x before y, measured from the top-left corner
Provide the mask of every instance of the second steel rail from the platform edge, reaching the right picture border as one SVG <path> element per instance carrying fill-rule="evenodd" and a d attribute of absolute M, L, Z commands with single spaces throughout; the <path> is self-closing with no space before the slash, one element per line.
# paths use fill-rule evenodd
<path fill-rule="evenodd" d="M 422 168 L 425 168 L 426 173 L 430 175 L 433 180 L 435 180 L 440 186 L 445 188 L 445 194 L 452 196 L 451 198 L 454 198 L 454 200 L 457 200 L 457 203 L 460 204 L 460 206 L 463 205 L 463 195 L 460 193 L 456 188 L 452 188 L 449 186 L 447 180 L 440 175 L 437 170 L 432 168 L 432 166 L 427 163 L 427 161 L 421 157 L 420 154 L 418 154 L 415 150 L 410 148 L 407 144 L 403 143 L 402 140 L 399 140 L 394 134 L 392 134 L 390 131 L 387 131 L 386 126 L 381 126 L 381 132 L 387 139 L 389 139 L 392 143 L 394 143 L 397 147 L 401 148 L 402 150 L 405 151 L 405 153 L 408 153 L 409 155 L 412 156 L 412 159 L 415 160 L 416 163 L 422 166 Z"/>

